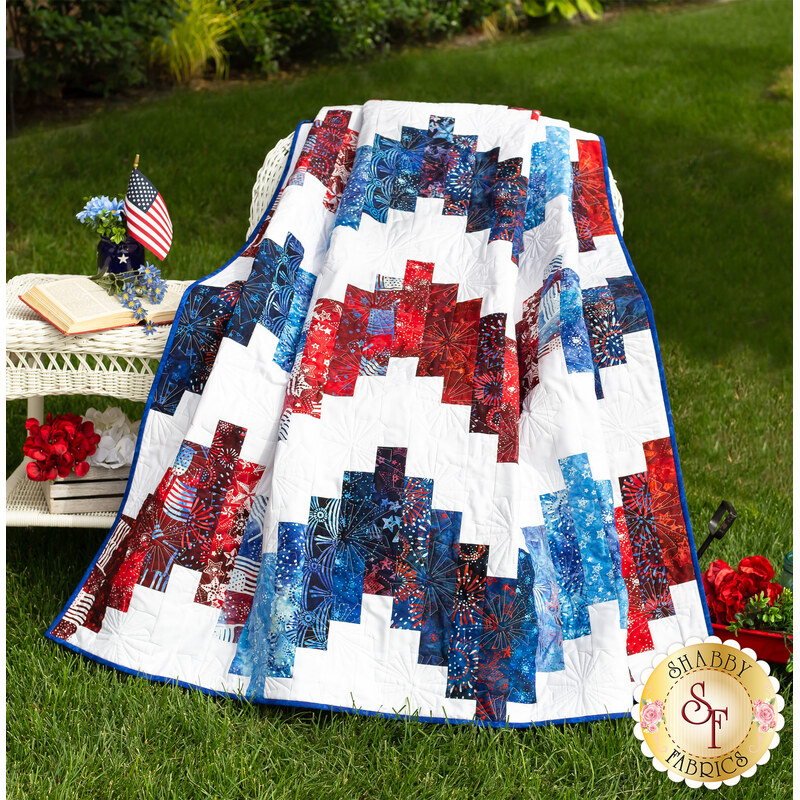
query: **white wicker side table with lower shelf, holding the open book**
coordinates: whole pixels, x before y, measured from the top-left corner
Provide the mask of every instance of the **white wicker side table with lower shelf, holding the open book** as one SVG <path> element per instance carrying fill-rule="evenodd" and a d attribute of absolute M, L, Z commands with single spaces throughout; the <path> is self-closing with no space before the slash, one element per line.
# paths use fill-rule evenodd
<path fill-rule="evenodd" d="M 93 394 L 144 402 L 169 336 L 169 325 L 145 336 L 116 328 L 65 336 L 20 299 L 37 283 L 68 275 L 19 275 L 6 284 L 6 400 L 27 398 L 28 416 L 44 417 L 44 398 Z M 185 288 L 191 281 L 170 281 Z M 23 461 L 6 481 L 6 524 L 108 528 L 115 514 L 50 514 L 43 484 L 28 480 Z"/>

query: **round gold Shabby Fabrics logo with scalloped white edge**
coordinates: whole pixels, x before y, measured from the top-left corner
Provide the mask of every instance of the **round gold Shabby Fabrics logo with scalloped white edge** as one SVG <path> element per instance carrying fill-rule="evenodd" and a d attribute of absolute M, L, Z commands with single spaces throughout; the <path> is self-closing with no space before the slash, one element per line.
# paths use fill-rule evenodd
<path fill-rule="evenodd" d="M 642 674 L 631 716 L 653 766 L 715 789 L 750 777 L 778 746 L 783 698 L 765 661 L 716 636 L 689 639 Z"/>

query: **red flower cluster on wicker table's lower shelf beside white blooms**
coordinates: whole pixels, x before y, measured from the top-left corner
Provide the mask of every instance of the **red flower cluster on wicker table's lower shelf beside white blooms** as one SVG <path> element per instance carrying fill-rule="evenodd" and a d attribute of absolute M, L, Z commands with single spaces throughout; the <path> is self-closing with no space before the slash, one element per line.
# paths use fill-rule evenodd
<path fill-rule="evenodd" d="M 91 422 L 83 422 L 77 414 L 48 414 L 44 425 L 31 417 L 25 429 L 28 438 L 22 452 L 33 459 L 25 468 L 32 481 L 66 478 L 73 469 L 78 477 L 89 471 L 86 458 L 97 450 L 100 441 Z"/>

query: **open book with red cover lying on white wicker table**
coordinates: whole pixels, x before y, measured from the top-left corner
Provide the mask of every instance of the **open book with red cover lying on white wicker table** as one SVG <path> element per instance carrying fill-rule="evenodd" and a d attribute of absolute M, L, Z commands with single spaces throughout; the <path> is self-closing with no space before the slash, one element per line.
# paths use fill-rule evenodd
<path fill-rule="evenodd" d="M 141 298 L 147 318 L 155 323 L 171 322 L 185 289 L 185 283 L 169 283 L 158 305 Z M 85 275 L 40 283 L 19 299 L 61 333 L 90 333 L 138 324 L 133 312 L 123 308 L 117 297 L 108 295 Z"/>

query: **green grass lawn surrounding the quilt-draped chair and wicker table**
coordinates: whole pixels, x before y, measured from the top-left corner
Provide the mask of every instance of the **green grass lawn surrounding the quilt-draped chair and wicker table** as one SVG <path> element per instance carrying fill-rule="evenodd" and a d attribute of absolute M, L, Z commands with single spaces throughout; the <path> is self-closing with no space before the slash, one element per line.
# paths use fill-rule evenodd
<path fill-rule="evenodd" d="M 175 223 L 168 275 L 197 278 L 240 246 L 264 154 L 323 105 L 539 108 L 606 140 L 655 310 L 698 541 L 719 500 L 739 511 L 702 566 L 756 552 L 780 564 L 792 546 L 791 18 L 787 0 L 626 12 L 30 127 L 8 141 L 8 273 L 89 272 L 93 242 L 73 215 L 84 195 L 122 192 L 136 152 Z M 11 467 L 24 403 L 8 412 Z M 696 796 L 653 771 L 632 722 L 447 728 L 220 701 L 100 667 L 42 634 L 101 539 L 8 531 L 10 797 Z M 791 708 L 773 760 L 725 791 L 790 796 Z"/>

